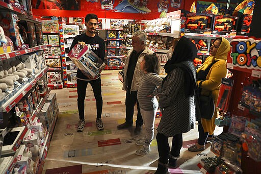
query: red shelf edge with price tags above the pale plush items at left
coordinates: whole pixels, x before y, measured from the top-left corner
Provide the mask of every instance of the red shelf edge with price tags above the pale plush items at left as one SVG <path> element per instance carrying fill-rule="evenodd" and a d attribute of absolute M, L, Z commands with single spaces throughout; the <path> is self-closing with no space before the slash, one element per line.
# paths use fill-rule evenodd
<path fill-rule="evenodd" d="M 28 48 L 28 49 L 22 49 L 22 50 L 19 50 L 19 51 L 0 54 L 0 61 L 10 59 L 10 58 L 13 58 L 13 57 L 16 57 L 16 56 L 21 56 L 21 55 L 24 55 L 24 54 L 36 52 L 36 51 L 43 49 L 43 48 L 46 48 L 46 45 L 39 45 L 39 46 L 35 46 L 35 47 L 32 47 L 32 48 Z"/>

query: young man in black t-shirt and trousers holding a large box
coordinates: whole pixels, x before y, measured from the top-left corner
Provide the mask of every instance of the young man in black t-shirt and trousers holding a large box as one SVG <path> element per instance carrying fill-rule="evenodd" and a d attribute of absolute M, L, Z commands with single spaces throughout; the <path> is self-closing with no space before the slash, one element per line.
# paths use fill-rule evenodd
<path fill-rule="evenodd" d="M 82 35 L 78 35 L 73 39 L 70 50 L 73 48 L 75 44 L 88 45 L 89 49 L 91 49 L 101 60 L 104 61 L 105 57 L 105 41 L 101 39 L 98 35 L 95 34 L 95 30 L 97 27 L 98 17 L 95 14 L 87 14 L 85 17 L 85 26 L 86 32 Z M 85 118 L 84 118 L 84 101 L 86 95 L 86 88 L 88 83 L 91 84 L 94 97 L 96 100 L 96 127 L 97 129 L 103 130 L 103 123 L 101 120 L 101 111 L 102 111 L 102 96 L 101 96 L 101 80 L 100 76 L 96 79 L 92 77 L 85 76 L 82 71 L 78 68 L 77 74 L 77 105 L 79 111 L 80 120 L 77 126 L 77 132 L 82 132 L 85 126 Z"/>

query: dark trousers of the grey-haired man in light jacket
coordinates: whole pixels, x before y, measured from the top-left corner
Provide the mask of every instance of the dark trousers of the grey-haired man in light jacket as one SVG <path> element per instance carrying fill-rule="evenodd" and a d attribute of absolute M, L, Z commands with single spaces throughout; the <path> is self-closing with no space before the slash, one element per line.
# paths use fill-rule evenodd
<path fill-rule="evenodd" d="M 136 125 L 143 124 L 141 111 L 140 111 L 140 105 L 137 100 L 137 93 L 138 93 L 138 91 L 131 91 L 131 89 L 127 89 L 127 91 L 126 91 L 126 98 L 125 98 L 126 118 L 125 118 L 125 120 L 130 125 L 133 124 L 133 114 L 134 114 L 134 107 L 135 107 L 136 103 L 137 103 L 137 109 L 138 109 Z"/>

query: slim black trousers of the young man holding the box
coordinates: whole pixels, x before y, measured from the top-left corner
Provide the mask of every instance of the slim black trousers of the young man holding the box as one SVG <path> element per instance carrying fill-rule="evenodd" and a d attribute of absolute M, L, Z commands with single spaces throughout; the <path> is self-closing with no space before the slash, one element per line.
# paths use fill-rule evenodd
<path fill-rule="evenodd" d="M 78 105 L 78 112 L 80 119 L 84 119 L 84 101 L 86 95 L 86 88 L 88 83 L 91 84 L 93 94 L 96 100 L 96 116 L 97 118 L 101 118 L 101 111 L 102 111 L 102 96 L 101 96 L 101 82 L 100 78 L 92 81 L 83 81 L 77 79 L 77 105 Z"/>

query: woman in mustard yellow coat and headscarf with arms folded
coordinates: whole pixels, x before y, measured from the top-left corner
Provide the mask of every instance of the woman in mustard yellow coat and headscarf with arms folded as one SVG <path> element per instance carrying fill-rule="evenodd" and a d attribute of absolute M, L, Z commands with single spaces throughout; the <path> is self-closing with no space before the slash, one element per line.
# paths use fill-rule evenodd
<path fill-rule="evenodd" d="M 219 89 L 222 78 L 226 77 L 226 60 L 230 51 L 230 43 L 225 38 L 216 38 L 210 48 L 211 56 L 208 56 L 202 66 L 197 70 L 197 84 L 201 81 L 201 94 L 208 95 L 212 93 L 215 106 L 217 105 Z M 189 151 L 197 152 L 205 149 L 205 141 L 211 139 L 215 130 L 215 119 L 218 117 L 219 109 L 215 107 L 215 113 L 212 119 L 201 118 L 198 121 L 198 142 L 189 147 Z M 208 137 L 208 138 L 207 138 Z"/>

